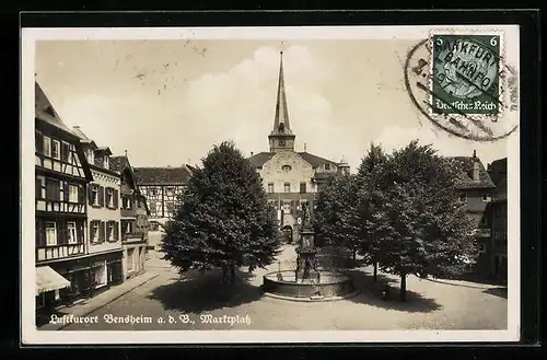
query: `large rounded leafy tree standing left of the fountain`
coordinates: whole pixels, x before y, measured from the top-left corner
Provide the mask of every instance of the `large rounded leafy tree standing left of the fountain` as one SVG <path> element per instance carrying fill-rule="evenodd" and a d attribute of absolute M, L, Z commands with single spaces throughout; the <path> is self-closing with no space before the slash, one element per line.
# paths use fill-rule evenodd
<path fill-rule="evenodd" d="M 202 162 L 166 227 L 162 249 L 181 272 L 220 267 L 232 282 L 235 267 L 245 264 L 252 271 L 272 263 L 276 222 L 259 176 L 233 142 L 214 146 Z"/>

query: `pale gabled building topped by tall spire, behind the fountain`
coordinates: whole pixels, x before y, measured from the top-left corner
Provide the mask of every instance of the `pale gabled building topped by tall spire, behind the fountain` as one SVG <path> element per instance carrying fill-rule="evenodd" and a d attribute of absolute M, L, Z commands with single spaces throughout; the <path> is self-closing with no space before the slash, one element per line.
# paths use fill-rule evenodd
<path fill-rule="evenodd" d="M 294 150 L 293 133 L 284 90 L 282 51 L 279 67 L 278 91 L 274 129 L 268 136 L 269 151 L 251 153 L 248 161 L 260 175 L 268 196 L 268 204 L 275 209 L 279 229 L 287 242 L 298 241 L 295 231 L 302 221 L 302 206 L 314 208 L 316 193 L 329 176 L 350 172 L 345 161 L 334 162 L 307 151 Z"/>

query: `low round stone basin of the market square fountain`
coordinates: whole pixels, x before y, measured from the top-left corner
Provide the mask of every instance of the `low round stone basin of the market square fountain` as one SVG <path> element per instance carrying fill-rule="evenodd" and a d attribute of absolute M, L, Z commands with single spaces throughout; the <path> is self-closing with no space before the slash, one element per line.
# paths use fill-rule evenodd
<path fill-rule="evenodd" d="M 278 280 L 279 274 L 282 280 Z M 263 281 L 265 292 L 294 299 L 339 298 L 354 291 L 352 279 L 337 271 L 319 271 L 318 283 L 296 281 L 294 270 L 266 274 Z"/>

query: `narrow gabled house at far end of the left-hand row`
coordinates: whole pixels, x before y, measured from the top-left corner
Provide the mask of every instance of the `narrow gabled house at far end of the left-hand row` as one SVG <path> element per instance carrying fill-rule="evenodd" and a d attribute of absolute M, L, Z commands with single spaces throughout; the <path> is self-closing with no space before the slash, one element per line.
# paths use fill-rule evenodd
<path fill-rule="evenodd" d="M 149 242 L 148 206 L 140 193 L 135 172 L 127 155 L 110 160 L 119 173 L 121 242 L 124 248 L 124 278 L 128 279 L 146 270 L 146 254 Z"/>

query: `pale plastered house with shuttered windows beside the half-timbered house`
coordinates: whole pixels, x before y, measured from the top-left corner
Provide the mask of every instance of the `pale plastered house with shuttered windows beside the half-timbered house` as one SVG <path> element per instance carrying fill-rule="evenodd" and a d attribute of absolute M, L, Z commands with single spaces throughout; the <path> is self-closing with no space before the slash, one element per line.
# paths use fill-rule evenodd
<path fill-rule="evenodd" d="M 124 281 L 120 236 L 119 174 L 110 169 L 110 149 L 98 148 L 80 127 L 72 131 L 90 164 L 93 182 L 88 184 L 88 233 L 94 291 Z"/>

